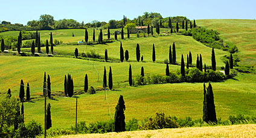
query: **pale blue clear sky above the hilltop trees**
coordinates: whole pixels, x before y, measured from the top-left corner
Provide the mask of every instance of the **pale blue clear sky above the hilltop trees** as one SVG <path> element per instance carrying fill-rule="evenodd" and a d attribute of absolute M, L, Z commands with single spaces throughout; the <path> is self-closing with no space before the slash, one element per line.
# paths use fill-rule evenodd
<path fill-rule="evenodd" d="M 85 23 L 121 20 L 142 16 L 144 12 L 162 17 L 186 16 L 188 19 L 256 19 L 255 0 L 0 0 L 0 21 L 22 23 L 50 14 L 54 20 L 74 19 Z"/>

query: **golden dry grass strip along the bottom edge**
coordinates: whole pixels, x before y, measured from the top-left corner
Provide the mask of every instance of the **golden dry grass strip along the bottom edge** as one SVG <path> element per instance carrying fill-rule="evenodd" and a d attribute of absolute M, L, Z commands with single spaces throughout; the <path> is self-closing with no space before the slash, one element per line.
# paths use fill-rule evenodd
<path fill-rule="evenodd" d="M 229 125 L 218 127 L 189 127 L 123 133 L 78 134 L 62 137 L 256 137 L 256 125 Z"/>

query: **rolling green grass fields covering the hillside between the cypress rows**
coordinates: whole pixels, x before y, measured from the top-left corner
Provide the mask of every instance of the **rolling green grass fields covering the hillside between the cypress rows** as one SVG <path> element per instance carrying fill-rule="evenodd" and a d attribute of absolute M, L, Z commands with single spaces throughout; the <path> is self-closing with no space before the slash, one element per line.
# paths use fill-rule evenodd
<path fill-rule="evenodd" d="M 226 21 L 226 22 L 225 22 Z M 236 20 L 235 20 L 236 21 Z M 215 22 L 220 22 L 220 24 Z M 198 20 L 197 25 L 206 26 L 208 28 L 216 28 L 225 41 L 231 41 L 238 46 L 240 50 L 239 55 L 243 58 L 240 64 L 255 65 L 255 50 L 254 40 L 249 39 L 250 28 L 246 28 L 248 20 L 240 20 L 241 32 L 234 32 L 232 25 L 228 30 L 218 27 L 229 23 L 229 20 Z M 243 23 L 245 22 L 245 23 Z M 252 24 L 254 23 L 251 20 Z M 211 24 L 212 23 L 212 24 Z M 235 23 L 234 23 L 235 24 Z M 237 29 L 234 26 L 234 29 Z M 117 29 L 111 29 L 114 32 Z M 120 30 L 120 29 L 119 29 Z M 154 29 L 155 30 L 155 29 Z M 168 29 L 161 29 L 161 32 L 168 31 Z M 255 31 L 255 27 L 254 27 Z M 252 34 L 254 33 L 252 31 Z M 25 122 L 32 119 L 43 124 L 43 73 L 46 71 L 51 76 L 51 90 L 54 94 L 55 100 L 48 99 L 51 103 L 51 119 L 54 128 L 69 128 L 75 122 L 75 98 L 68 98 L 57 96 L 63 93 L 63 82 L 65 74 L 71 73 L 74 79 L 75 92 L 83 91 L 83 83 L 85 74 L 88 74 L 89 86 L 94 88 L 102 88 L 102 77 L 104 66 L 109 71 L 109 66 L 112 67 L 112 74 L 114 80 L 115 91 L 107 91 L 107 100 L 104 100 L 104 91 L 97 91 L 97 94 L 76 95 L 78 97 L 78 121 L 96 122 L 114 119 L 115 106 L 119 95 L 124 96 L 126 102 L 126 121 L 136 118 L 142 120 L 147 116 L 154 115 L 157 111 L 164 111 L 171 116 L 178 116 L 185 118 L 190 116 L 193 119 L 202 118 L 203 107 L 203 83 L 173 83 L 173 84 L 158 84 L 146 86 L 128 85 L 128 71 L 129 64 L 132 65 L 133 77 L 140 74 L 141 67 L 144 67 L 146 76 L 153 74 L 165 74 L 165 59 L 168 59 L 169 46 L 173 42 L 176 44 L 177 62 L 181 62 L 181 54 L 185 56 L 191 51 L 193 55 L 193 64 L 196 63 L 196 55 L 202 54 L 203 63 L 211 65 L 211 48 L 204 46 L 202 43 L 194 40 L 192 37 L 184 35 L 167 35 L 155 37 L 136 37 L 133 34 L 130 39 L 121 40 L 123 49 L 129 50 L 130 62 L 119 62 L 120 40 L 107 44 L 86 45 L 69 45 L 67 43 L 75 43 L 84 39 L 85 29 L 63 29 L 54 30 L 53 37 L 57 40 L 62 40 L 64 44 L 54 47 L 54 52 L 57 55 L 65 57 L 33 57 L 33 56 L 10 56 L 7 53 L 1 53 L 0 56 L 0 95 L 1 98 L 11 88 L 12 95 L 18 97 L 19 83 L 21 79 L 24 83 L 30 83 L 31 97 L 34 98 L 32 102 L 24 104 L 25 108 Z M 72 37 L 74 32 L 75 37 Z M 0 35 L 18 35 L 18 31 L 2 32 Z M 97 32 L 98 33 L 98 32 Z M 96 33 L 96 34 L 97 34 Z M 103 30 L 103 34 L 106 30 Z M 237 35 L 229 35 L 234 33 Z M 247 34 L 246 34 L 247 33 Z M 50 38 L 50 31 L 40 31 L 41 40 L 45 41 Z M 89 29 L 89 36 L 92 35 L 92 29 Z M 143 34 L 141 34 L 143 35 Z M 238 41 L 238 36 L 243 37 L 241 43 Z M 147 36 L 147 35 L 146 35 Z M 112 38 L 114 36 L 111 36 Z M 106 38 L 106 36 L 104 36 Z M 120 36 L 118 36 L 120 38 Z M 90 37 L 91 39 L 91 37 Z M 234 40 L 234 41 L 233 41 Z M 146 62 L 135 62 L 136 60 L 136 44 L 139 43 L 141 55 L 144 56 Z M 156 62 L 152 62 L 152 44 L 155 44 Z M 250 47 L 251 46 L 251 47 Z M 87 48 L 86 48 L 87 47 Z M 247 48 L 249 47 L 249 48 Z M 74 58 L 74 49 L 78 48 L 78 52 L 89 52 L 94 50 L 104 58 L 104 49 L 108 50 L 108 56 L 114 62 L 100 62 L 88 61 L 85 59 Z M 45 50 L 45 47 L 41 48 Z M 249 52 L 251 50 L 251 53 Z M 254 50 L 254 51 L 253 51 Z M 29 52 L 30 49 L 22 48 L 22 51 Z M 44 52 L 44 51 L 43 51 Z M 224 66 L 222 57 L 228 52 L 215 49 L 217 67 Z M 254 54 L 249 56 L 248 53 Z M 250 59 L 251 57 L 251 59 Z M 249 60 L 250 59 L 250 60 Z M 246 61 L 249 60 L 249 61 Z M 170 65 L 171 71 L 179 70 L 179 65 Z M 5 78 L 5 79 L 2 79 Z M 216 104 L 217 118 L 227 119 L 229 115 L 256 115 L 256 74 L 242 74 L 234 79 L 229 79 L 224 82 L 216 82 L 213 84 L 214 101 Z M 109 105 L 109 106 L 108 106 Z M 109 113 L 108 113 L 109 110 Z M 109 114 L 109 115 L 108 115 Z"/>

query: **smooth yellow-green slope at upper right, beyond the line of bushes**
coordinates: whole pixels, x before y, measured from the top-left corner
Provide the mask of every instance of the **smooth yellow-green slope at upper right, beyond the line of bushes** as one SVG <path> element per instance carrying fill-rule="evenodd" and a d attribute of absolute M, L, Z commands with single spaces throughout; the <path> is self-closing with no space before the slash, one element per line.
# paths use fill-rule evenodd
<path fill-rule="evenodd" d="M 234 43 L 240 50 L 242 65 L 256 67 L 256 20 L 197 20 L 197 25 L 220 32 L 225 40 Z"/>

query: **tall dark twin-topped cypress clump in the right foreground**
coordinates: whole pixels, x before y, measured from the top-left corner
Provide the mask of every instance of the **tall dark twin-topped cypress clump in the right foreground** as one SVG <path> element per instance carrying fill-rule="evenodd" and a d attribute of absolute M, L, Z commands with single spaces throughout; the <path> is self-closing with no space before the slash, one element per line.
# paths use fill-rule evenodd
<path fill-rule="evenodd" d="M 207 91 L 205 90 L 205 83 L 203 83 L 203 95 L 203 121 L 217 124 L 213 87 L 210 82 Z"/>

